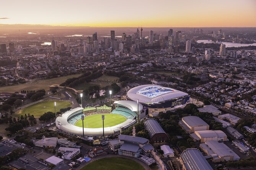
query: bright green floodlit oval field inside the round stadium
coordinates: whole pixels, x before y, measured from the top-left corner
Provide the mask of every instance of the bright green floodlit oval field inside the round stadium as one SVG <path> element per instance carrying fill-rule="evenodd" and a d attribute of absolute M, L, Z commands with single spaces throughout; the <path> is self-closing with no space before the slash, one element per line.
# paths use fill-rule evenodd
<path fill-rule="evenodd" d="M 81 119 L 78 120 L 75 123 L 75 126 L 78 126 L 78 127 L 84 126 L 85 128 L 102 128 L 103 124 L 102 124 L 101 115 L 105 115 L 104 127 L 115 126 L 127 120 L 126 117 L 118 114 L 115 114 L 115 115 L 114 114 L 95 114 L 95 115 L 86 116 L 85 120 L 83 120 L 83 123 Z M 87 122 L 88 122 L 88 127 L 86 127 Z"/>

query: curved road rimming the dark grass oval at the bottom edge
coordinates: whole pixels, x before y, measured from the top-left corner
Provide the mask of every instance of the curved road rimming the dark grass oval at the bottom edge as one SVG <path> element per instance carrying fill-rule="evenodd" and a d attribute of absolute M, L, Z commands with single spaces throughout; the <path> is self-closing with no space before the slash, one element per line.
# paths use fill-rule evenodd
<path fill-rule="evenodd" d="M 123 157 L 123 158 L 131 159 L 131 160 L 134 160 L 135 162 L 139 163 L 140 165 L 142 165 L 145 168 L 145 170 L 150 170 L 150 167 L 148 167 L 148 165 L 145 162 L 143 162 L 142 160 L 140 160 L 140 159 L 137 159 L 135 157 L 130 157 L 130 156 L 112 155 L 112 154 L 103 155 L 103 156 L 98 156 L 98 157 L 92 158 L 90 161 L 85 162 L 82 165 L 82 167 L 79 167 L 78 169 L 82 169 L 83 167 L 85 167 L 86 165 L 90 164 L 91 162 L 93 162 L 95 160 L 98 160 L 98 159 L 101 159 L 101 158 L 105 158 L 105 157 Z M 76 169 L 76 168 L 74 168 L 74 169 Z"/>

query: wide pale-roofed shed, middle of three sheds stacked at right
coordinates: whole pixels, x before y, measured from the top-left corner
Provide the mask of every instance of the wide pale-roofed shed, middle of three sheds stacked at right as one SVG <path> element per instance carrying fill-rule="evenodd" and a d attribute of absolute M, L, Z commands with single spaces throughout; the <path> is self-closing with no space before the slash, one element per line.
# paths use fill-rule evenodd
<path fill-rule="evenodd" d="M 196 142 L 205 143 L 206 141 L 227 141 L 227 135 L 221 130 L 201 130 L 191 133 L 190 136 Z"/>

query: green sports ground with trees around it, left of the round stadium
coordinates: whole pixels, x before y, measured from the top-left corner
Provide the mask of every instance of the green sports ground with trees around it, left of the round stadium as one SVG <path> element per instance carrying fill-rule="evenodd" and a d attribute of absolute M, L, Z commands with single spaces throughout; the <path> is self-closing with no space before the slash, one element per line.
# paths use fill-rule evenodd
<path fill-rule="evenodd" d="M 69 102 L 65 101 L 56 101 L 56 112 L 59 112 L 60 109 L 66 108 L 71 106 Z M 15 113 L 14 116 L 21 116 L 21 114 L 31 114 L 34 115 L 35 117 L 39 117 L 43 115 L 45 112 L 55 112 L 54 109 L 54 100 L 47 100 L 47 101 L 42 101 L 36 104 L 33 104 L 31 106 L 25 107 L 21 111 Z"/>

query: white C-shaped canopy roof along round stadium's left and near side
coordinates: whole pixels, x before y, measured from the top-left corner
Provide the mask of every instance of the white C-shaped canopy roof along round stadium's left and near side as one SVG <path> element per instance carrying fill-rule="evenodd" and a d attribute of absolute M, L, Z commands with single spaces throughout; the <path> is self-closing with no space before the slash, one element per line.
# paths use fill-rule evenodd
<path fill-rule="evenodd" d="M 72 125 L 67 121 L 68 117 L 72 116 L 72 114 L 75 114 L 75 112 L 82 111 L 82 109 L 83 109 L 82 107 L 77 107 L 70 111 L 65 112 L 64 114 L 62 114 L 62 116 L 58 116 L 55 120 L 56 127 L 67 133 L 71 133 L 74 135 L 83 135 L 82 127 Z M 114 132 L 119 130 L 120 127 L 126 128 L 135 122 L 136 120 L 127 119 L 125 122 L 121 124 L 118 124 L 112 127 L 104 127 L 104 134 L 105 135 L 114 134 Z M 103 134 L 103 128 L 84 128 L 84 134 L 85 136 L 101 136 Z"/>

